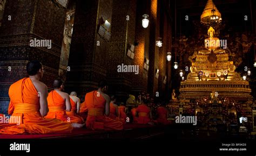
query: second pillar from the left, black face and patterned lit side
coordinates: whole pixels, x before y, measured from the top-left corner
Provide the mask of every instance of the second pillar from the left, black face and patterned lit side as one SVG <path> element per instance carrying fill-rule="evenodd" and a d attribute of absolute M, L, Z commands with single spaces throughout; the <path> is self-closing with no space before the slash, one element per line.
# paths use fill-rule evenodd
<path fill-rule="evenodd" d="M 66 91 L 84 98 L 106 78 L 112 29 L 112 0 L 77 1 L 66 76 Z M 105 23 L 110 24 L 108 27 Z"/>

